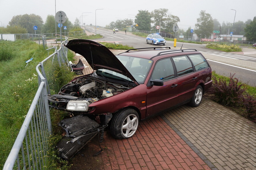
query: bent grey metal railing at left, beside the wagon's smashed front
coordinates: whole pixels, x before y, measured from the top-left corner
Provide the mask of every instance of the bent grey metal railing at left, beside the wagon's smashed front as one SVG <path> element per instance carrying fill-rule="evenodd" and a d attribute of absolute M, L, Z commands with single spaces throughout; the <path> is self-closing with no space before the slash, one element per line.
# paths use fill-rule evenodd
<path fill-rule="evenodd" d="M 49 169 L 47 160 L 49 154 L 48 139 L 52 134 L 51 117 L 47 95 L 56 93 L 54 72 L 56 66 L 65 63 L 70 69 L 67 60 L 67 49 L 63 46 L 68 39 L 61 43 L 59 50 L 44 59 L 36 66 L 38 73 L 38 90 L 21 126 L 12 150 L 4 164 L 4 170 L 11 169 Z M 65 49 L 64 49 L 65 48 Z"/>

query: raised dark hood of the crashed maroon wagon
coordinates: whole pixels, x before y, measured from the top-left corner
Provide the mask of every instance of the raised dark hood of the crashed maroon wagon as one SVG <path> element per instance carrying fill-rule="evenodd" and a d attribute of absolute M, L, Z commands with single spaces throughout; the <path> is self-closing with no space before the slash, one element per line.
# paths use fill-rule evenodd
<path fill-rule="evenodd" d="M 127 76 L 137 85 L 139 84 L 121 61 L 104 45 L 88 39 L 73 39 L 64 46 L 82 55 L 94 70 L 109 69 Z"/>

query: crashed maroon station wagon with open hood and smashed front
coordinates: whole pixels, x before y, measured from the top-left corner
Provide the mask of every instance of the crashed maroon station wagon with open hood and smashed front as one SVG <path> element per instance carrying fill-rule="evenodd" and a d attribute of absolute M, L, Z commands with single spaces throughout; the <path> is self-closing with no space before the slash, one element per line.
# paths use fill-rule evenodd
<path fill-rule="evenodd" d="M 157 113 L 185 103 L 197 107 L 212 85 L 212 70 L 195 49 L 139 48 L 115 56 L 95 41 L 76 39 L 65 46 L 94 71 L 49 95 L 50 107 L 109 124 L 117 139 L 131 137 L 140 120 Z"/>

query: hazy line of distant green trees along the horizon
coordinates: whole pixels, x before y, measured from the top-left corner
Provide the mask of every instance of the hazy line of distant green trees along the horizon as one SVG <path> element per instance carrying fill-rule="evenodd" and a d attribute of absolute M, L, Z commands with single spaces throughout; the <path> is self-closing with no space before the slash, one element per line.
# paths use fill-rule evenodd
<path fill-rule="evenodd" d="M 156 26 L 160 26 L 160 31 L 164 33 L 172 34 L 172 28 L 174 25 L 178 25 L 180 18 L 178 16 L 169 13 L 168 9 L 160 8 L 149 12 L 148 10 L 138 10 L 137 15 L 133 16 L 133 19 L 116 20 L 110 22 L 106 25 L 106 28 L 113 29 L 119 28 L 120 31 L 124 30 L 126 26 L 132 26 L 133 29 L 143 30 L 143 31 L 159 31 Z M 132 17 L 132 18 L 133 18 Z M 57 27 L 57 32 L 59 32 L 58 23 L 55 22 L 55 16 L 48 15 L 45 23 L 42 18 L 35 14 L 24 14 L 13 16 L 12 20 L 9 22 L 7 28 L 0 28 L 0 33 L 34 33 L 33 26 L 36 25 L 38 29 L 37 34 L 40 33 L 55 33 L 55 24 Z M 70 22 L 67 18 L 63 26 L 67 27 L 68 31 L 80 31 L 80 22 L 76 18 L 74 24 Z M 63 27 L 61 28 L 62 31 Z M 190 34 L 191 27 L 186 31 L 180 29 L 180 33 L 184 36 Z M 247 21 L 236 21 L 223 22 L 220 24 L 217 19 L 212 19 L 212 16 L 205 12 L 205 10 L 200 11 L 199 18 L 197 18 L 197 23 L 195 23 L 194 32 L 200 38 L 209 38 L 212 31 L 220 31 L 220 34 L 230 34 L 233 31 L 233 35 L 244 35 L 248 41 L 256 41 L 256 16 L 253 20 L 248 19 Z"/>

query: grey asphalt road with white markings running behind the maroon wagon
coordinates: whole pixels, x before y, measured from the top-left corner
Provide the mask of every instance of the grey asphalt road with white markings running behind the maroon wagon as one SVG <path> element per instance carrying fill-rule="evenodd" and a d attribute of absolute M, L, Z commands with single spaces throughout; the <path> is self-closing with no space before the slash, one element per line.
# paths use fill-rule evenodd
<path fill-rule="evenodd" d="M 156 47 L 156 45 L 146 44 L 144 37 L 125 34 L 119 31 L 113 34 L 110 30 L 97 30 L 97 33 L 103 35 L 99 41 L 115 41 L 116 44 L 132 46 L 134 48 Z M 173 47 L 173 41 L 167 41 L 166 46 Z M 230 73 L 244 83 L 256 86 L 256 50 L 243 48 L 243 52 L 223 53 L 218 50 L 205 48 L 205 44 L 191 44 L 177 42 L 176 48 L 196 49 L 207 58 L 212 70 L 216 73 L 229 76 Z"/>

